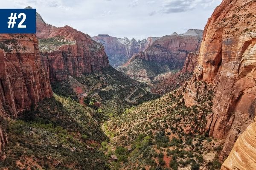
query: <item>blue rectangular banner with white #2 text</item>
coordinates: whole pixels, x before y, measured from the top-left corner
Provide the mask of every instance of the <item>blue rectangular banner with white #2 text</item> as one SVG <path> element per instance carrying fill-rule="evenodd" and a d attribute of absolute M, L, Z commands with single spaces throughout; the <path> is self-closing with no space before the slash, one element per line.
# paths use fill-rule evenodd
<path fill-rule="evenodd" d="M 35 9 L 0 9 L 0 34 L 35 34 Z"/>

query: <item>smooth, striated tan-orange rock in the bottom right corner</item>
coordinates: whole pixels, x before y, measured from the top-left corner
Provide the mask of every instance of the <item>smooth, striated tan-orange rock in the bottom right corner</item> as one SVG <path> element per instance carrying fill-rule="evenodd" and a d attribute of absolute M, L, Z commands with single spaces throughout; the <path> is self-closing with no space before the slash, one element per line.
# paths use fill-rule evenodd
<path fill-rule="evenodd" d="M 255 117 L 256 121 L 256 117 Z M 221 170 L 255 170 L 256 166 L 256 122 L 239 136 Z"/>

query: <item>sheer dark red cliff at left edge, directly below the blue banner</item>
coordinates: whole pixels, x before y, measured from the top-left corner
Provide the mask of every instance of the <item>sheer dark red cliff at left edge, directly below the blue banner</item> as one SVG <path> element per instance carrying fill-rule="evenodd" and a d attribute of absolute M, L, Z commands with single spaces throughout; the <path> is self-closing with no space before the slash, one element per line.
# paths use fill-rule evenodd
<path fill-rule="evenodd" d="M 51 97 L 52 89 L 35 35 L 1 34 L 0 48 L 0 159 L 4 159 L 5 118 L 15 118 L 18 113 Z"/>

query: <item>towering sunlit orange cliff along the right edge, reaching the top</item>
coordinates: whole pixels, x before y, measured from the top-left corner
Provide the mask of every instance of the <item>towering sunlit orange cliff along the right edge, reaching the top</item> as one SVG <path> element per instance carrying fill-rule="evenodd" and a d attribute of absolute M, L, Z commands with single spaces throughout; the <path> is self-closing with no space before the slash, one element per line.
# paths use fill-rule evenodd
<path fill-rule="evenodd" d="M 207 116 L 209 134 L 226 139 L 220 159 L 231 151 L 238 136 L 253 122 L 256 112 L 256 1 L 223 0 L 204 30 L 198 65 L 184 95 L 188 106 L 204 89 L 215 90 L 213 114 Z"/>

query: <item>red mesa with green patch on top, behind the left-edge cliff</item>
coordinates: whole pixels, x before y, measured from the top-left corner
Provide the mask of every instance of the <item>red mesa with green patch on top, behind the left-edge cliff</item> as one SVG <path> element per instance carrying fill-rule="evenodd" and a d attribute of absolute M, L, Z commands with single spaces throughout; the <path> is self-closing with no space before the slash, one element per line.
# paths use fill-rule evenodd
<path fill-rule="evenodd" d="M 39 16 L 37 21 L 41 20 Z M 62 81 L 68 75 L 79 77 L 109 66 L 103 45 L 70 26 L 57 28 L 37 22 L 36 36 L 51 81 Z"/>

